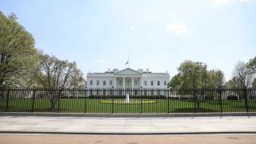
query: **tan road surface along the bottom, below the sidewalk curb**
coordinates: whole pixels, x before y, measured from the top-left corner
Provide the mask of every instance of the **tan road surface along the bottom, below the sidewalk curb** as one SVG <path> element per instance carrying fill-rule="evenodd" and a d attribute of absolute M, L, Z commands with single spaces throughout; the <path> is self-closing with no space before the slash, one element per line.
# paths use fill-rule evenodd
<path fill-rule="evenodd" d="M 1 144 L 95 143 L 95 144 L 255 144 L 256 134 L 182 134 L 182 135 L 89 135 L 89 134 L 0 134 Z"/>

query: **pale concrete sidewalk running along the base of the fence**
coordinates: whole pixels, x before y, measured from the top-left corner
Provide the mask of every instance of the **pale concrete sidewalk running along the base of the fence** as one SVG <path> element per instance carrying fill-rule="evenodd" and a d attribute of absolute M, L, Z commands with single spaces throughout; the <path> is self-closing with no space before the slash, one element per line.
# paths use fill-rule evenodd
<path fill-rule="evenodd" d="M 256 117 L 85 118 L 1 116 L 0 132 L 38 134 L 255 134 Z"/>

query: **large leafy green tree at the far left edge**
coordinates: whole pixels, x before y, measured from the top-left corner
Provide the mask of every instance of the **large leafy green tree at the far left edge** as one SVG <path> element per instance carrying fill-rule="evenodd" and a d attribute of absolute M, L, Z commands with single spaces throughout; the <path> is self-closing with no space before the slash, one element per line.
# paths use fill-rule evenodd
<path fill-rule="evenodd" d="M 18 24 L 15 14 L 0 12 L 0 89 L 17 87 L 34 66 L 37 50 L 33 36 Z"/>

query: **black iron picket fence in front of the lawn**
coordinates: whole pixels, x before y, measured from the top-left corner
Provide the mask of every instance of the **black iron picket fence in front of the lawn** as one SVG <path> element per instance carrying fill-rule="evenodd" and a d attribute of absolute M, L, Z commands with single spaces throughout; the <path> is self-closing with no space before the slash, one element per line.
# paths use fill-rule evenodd
<path fill-rule="evenodd" d="M 256 90 L 0 90 L 0 112 L 249 113 L 256 112 Z"/>

